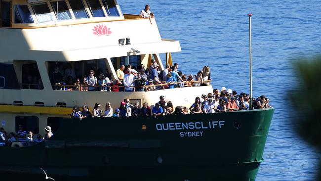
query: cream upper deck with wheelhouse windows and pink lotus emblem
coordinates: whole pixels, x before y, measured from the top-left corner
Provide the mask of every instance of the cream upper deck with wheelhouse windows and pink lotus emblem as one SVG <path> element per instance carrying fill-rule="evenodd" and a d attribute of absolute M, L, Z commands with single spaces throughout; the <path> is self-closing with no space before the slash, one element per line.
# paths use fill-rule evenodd
<path fill-rule="evenodd" d="M 116 0 L 2 0 L 1 6 L 2 62 L 181 51 L 178 41 L 161 39 L 155 18 L 122 14 Z M 120 46 L 126 38 L 130 45 Z"/>

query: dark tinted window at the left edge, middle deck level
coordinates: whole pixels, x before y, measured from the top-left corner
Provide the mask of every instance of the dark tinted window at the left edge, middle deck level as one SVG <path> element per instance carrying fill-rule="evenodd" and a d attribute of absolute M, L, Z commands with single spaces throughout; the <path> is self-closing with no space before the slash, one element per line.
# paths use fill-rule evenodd
<path fill-rule="evenodd" d="M 0 88 L 20 89 L 13 64 L 0 63 Z"/>

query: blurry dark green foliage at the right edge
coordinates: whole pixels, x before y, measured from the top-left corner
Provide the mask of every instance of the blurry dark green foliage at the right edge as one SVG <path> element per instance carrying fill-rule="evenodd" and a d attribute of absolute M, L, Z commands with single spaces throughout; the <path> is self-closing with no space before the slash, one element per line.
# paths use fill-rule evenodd
<path fill-rule="evenodd" d="M 321 151 L 321 56 L 311 60 L 299 60 L 294 67 L 298 86 L 290 93 L 290 99 L 295 110 L 295 129 Z M 318 181 L 321 181 L 320 172 Z"/>

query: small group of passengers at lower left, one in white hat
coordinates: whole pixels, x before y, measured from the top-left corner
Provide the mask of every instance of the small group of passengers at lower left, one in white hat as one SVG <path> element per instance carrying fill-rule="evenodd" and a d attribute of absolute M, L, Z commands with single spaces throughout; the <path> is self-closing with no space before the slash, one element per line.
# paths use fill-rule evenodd
<path fill-rule="evenodd" d="M 17 133 L 11 132 L 9 135 L 7 135 L 3 128 L 0 128 L 0 146 L 31 146 L 53 136 L 50 126 L 47 126 L 44 130 L 46 134 L 42 137 L 40 134 L 34 136 L 32 131 L 26 131 L 22 124 L 18 125 Z"/>

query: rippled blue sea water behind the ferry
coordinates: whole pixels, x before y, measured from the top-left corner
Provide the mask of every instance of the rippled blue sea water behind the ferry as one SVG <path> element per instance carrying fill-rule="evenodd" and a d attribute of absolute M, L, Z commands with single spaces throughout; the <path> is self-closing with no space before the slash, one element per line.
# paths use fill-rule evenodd
<path fill-rule="evenodd" d="M 296 85 L 292 62 L 321 50 L 321 0 L 119 0 L 123 13 L 151 6 L 161 37 L 184 73 L 211 68 L 213 88 L 249 92 L 248 16 L 252 13 L 253 95 L 275 107 L 257 181 L 315 180 L 319 154 L 295 134 L 284 101 Z M 139 27 L 137 27 L 139 28 Z M 304 93 L 305 90 L 302 90 Z"/>

